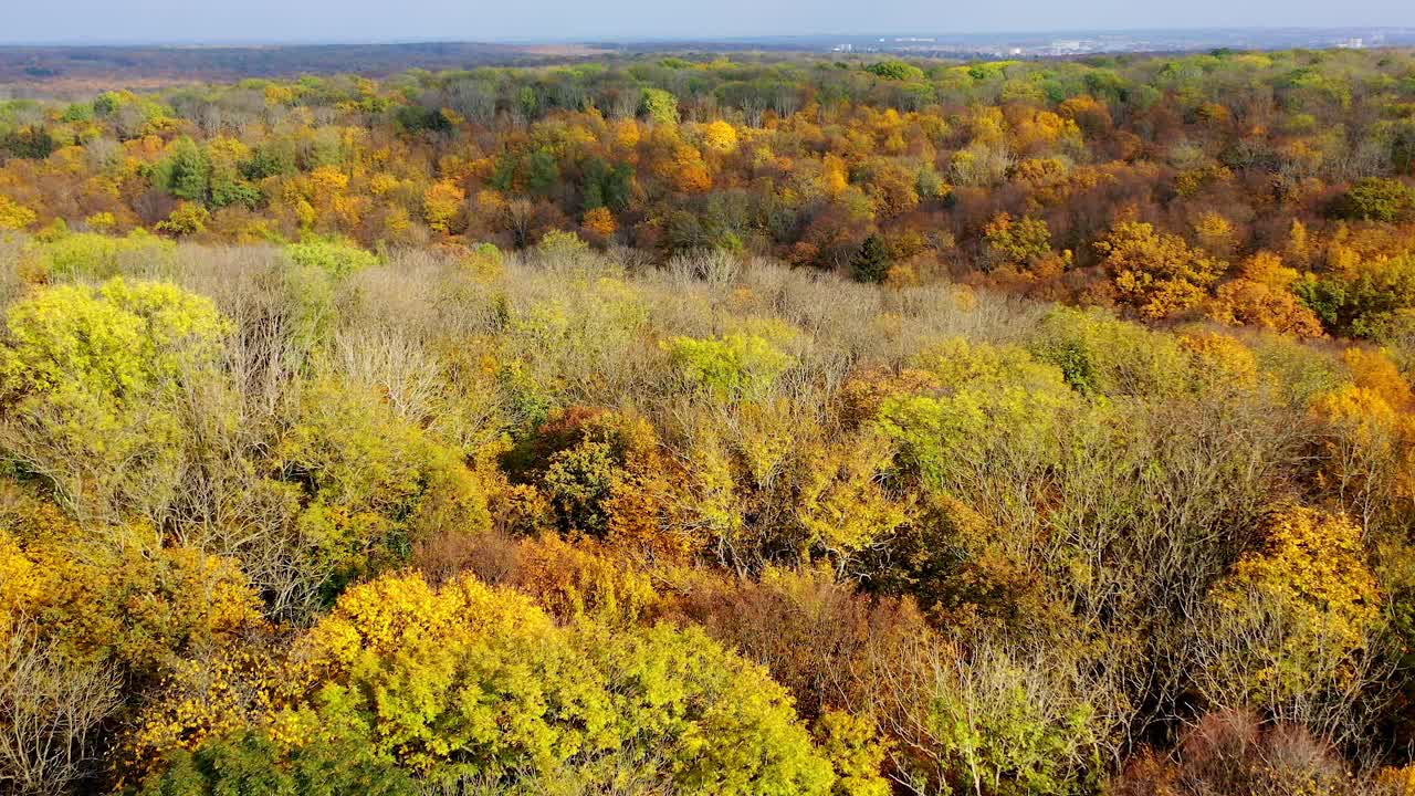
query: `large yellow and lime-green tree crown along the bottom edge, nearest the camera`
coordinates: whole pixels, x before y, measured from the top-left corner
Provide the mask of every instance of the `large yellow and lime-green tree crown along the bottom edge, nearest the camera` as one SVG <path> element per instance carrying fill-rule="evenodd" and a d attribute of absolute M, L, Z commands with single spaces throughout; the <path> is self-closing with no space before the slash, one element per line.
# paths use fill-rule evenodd
<path fill-rule="evenodd" d="M 471 578 L 351 589 L 297 660 L 317 686 L 273 717 L 283 735 L 366 728 L 365 759 L 430 782 L 634 771 L 682 793 L 824 796 L 835 779 L 785 691 L 700 630 L 560 627 Z"/>

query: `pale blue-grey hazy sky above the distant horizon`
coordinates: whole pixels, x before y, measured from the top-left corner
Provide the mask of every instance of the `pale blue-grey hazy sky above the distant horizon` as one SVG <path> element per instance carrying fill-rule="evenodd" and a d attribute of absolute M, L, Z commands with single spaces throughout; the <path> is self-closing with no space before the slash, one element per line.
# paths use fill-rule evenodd
<path fill-rule="evenodd" d="M 0 0 L 4 44 L 1415 27 L 1415 0 Z"/>

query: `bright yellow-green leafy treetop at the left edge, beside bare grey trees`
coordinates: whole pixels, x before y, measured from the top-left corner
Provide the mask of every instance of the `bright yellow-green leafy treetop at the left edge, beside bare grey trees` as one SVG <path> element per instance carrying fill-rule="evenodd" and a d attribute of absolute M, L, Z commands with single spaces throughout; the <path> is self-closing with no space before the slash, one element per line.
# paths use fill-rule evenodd
<path fill-rule="evenodd" d="M 229 333 L 209 299 L 164 283 L 21 300 L 0 346 L 0 445 L 83 516 L 157 511 L 181 476 L 183 385 L 219 384 Z"/>

